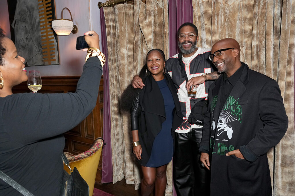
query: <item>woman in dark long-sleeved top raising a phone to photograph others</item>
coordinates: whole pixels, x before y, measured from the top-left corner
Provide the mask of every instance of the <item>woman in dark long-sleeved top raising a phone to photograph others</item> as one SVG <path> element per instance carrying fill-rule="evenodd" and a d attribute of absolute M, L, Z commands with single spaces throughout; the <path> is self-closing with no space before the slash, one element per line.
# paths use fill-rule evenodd
<path fill-rule="evenodd" d="M 98 35 L 85 35 L 95 49 L 87 54 L 75 93 L 12 94 L 13 86 L 27 81 L 25 59 L 0 28 L 0 170 L 36 196 L 59 195 L 63 133 L 96 105 L 104 61 L 96 57 L 101 54 Z M 0 195 L 22 194 L 0 180 Z"/>

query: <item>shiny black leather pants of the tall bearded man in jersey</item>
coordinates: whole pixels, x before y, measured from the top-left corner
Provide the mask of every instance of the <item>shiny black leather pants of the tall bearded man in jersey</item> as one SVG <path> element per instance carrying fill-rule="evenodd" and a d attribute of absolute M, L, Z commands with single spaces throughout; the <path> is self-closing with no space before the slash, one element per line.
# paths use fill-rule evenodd
<path fill-rule="evenodd" d="M 200 162 L 201 137 L 202 128 L 175 133 L 173 180 L 177 196 L 210 195 L 210 173 Z"/>

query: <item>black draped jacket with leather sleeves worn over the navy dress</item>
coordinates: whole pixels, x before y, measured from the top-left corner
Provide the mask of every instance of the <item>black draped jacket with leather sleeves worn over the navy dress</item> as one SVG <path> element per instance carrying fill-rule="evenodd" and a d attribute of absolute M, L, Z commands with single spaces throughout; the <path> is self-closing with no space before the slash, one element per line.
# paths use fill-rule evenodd
<path fill-rule="evenodd" d="M 174 141 L 174 130 L 183 122 L 183 117 L 176 87 L 169 75 L 164 74 L 164 77 L 175 104 L 171 129 L 171 135 Z M 139 142 L 142 148 L 143 156 L 142 160 L 139 160 L 141 165 L 145 166 L 150 159 L 153 142 L 162 129 L 162 123 L 165 120 L 164 99 L 157 82 L 150 74 L 145 79 L 145 87 L 138 93 L 137 97 L 134 98 L 131 107 L 131 129 L 138 129 Z"/>

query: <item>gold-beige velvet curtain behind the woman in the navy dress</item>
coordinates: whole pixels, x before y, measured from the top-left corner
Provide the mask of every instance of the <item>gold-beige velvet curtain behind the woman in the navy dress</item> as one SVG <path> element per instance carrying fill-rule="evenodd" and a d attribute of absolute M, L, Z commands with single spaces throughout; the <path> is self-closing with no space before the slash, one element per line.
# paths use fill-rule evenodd
<path fill-rule="evenodd" d="M 162 49 L 169 56 L 168 1 L 134 1 L 104 8 L 109 60 L 111 142 L 113 183 L 125 176 L 128 184 L 139 188 L 140 166 L 132 154 L 130 113 L 120 111 L 122 92 L 139 73 L 150 49 Z M 172 194 L 172 167 L 167 171 L 167 192 Z"/>

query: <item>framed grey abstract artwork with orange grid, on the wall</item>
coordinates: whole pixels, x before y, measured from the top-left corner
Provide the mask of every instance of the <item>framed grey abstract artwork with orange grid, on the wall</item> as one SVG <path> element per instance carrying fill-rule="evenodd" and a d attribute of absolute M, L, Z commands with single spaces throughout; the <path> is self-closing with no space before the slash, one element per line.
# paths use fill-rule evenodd
<path fill-rule="evenodd" d="M 55 0 L 7 0 L 11 39 L 26 66 L 58 65 Z"/>

